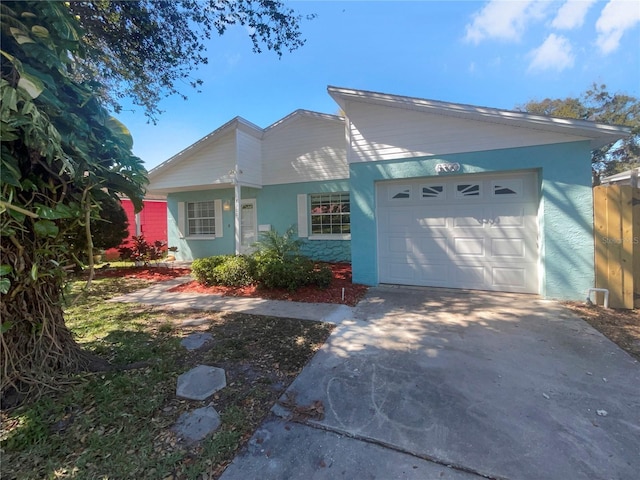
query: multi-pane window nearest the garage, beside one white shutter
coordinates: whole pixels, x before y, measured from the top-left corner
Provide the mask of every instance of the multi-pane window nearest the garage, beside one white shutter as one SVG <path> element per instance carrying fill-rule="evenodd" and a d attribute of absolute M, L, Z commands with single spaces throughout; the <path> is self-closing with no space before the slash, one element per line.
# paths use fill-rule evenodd
<path fill-rule="evenodd" d="M 311 235 L 351 234 L 348 193 L 321 193 L 310 197 Z"/>

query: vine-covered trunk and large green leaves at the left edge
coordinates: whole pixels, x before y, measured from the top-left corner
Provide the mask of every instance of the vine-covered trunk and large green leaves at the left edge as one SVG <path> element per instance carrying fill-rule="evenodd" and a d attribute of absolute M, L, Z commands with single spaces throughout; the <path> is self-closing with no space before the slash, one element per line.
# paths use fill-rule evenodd
<path fill-rule="evenodd" d="M 55 372 L 91 363 L 64 324 L 69 233 L 86 228 L 102 192 L 124 193 L 141 207 L 146 171 L 131 153 L 129 132 L 93 85 L 74 75 L 82 31 L 68 7 L 3 2 L 0 9 L 0 387 L 6 394 L 52 385 Z"/>

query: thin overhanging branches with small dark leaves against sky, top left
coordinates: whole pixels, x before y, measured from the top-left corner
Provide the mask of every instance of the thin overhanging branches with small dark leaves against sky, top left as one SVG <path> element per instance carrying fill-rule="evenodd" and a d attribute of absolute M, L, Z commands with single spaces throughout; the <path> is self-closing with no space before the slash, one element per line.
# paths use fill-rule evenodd
<path fill-rule="evenodd" d="M 127 0 L 70 2 L 85 35 L 78 65 L 99 81 L 100 94 L 116 109 L 129 97 L 155 120 L 163 95 L 185 97 L 207 63 L 206 40 L 234 25 L 245 27 L 254 52 L 281 56 L 304 44 L 302 18 L 274 0 Z M 186 97 L 185 97 L 186 98 Z"/>

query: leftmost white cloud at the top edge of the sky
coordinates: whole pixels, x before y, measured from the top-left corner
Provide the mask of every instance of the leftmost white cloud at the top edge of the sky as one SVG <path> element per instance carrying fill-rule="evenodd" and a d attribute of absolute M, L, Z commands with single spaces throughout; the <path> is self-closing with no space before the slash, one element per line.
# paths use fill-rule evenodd
<path fill-rule="evenodd" d="M 465 40 L 478 44 L 486 38 L 519 40 L 528 22 L 540 17 L 541 2 L 491 0 L 473 15 Z"/>

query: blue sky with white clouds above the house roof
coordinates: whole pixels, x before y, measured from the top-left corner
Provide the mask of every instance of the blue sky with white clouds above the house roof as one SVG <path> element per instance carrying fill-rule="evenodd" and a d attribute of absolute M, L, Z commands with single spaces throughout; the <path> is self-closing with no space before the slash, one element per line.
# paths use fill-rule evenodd
<path fill-rule="evenodd" d="M 232 118 L 266 128 L 297 109 L 338 113 L 327 86 L 513 110 L 594 82 L 640 98 L 640 0 L 287 1 L 312 20 L 281 58 L 233 27 L 207 43 L 198 93 L 168 97 L 154 125 L 117 116 L 148 170 Z"/>

